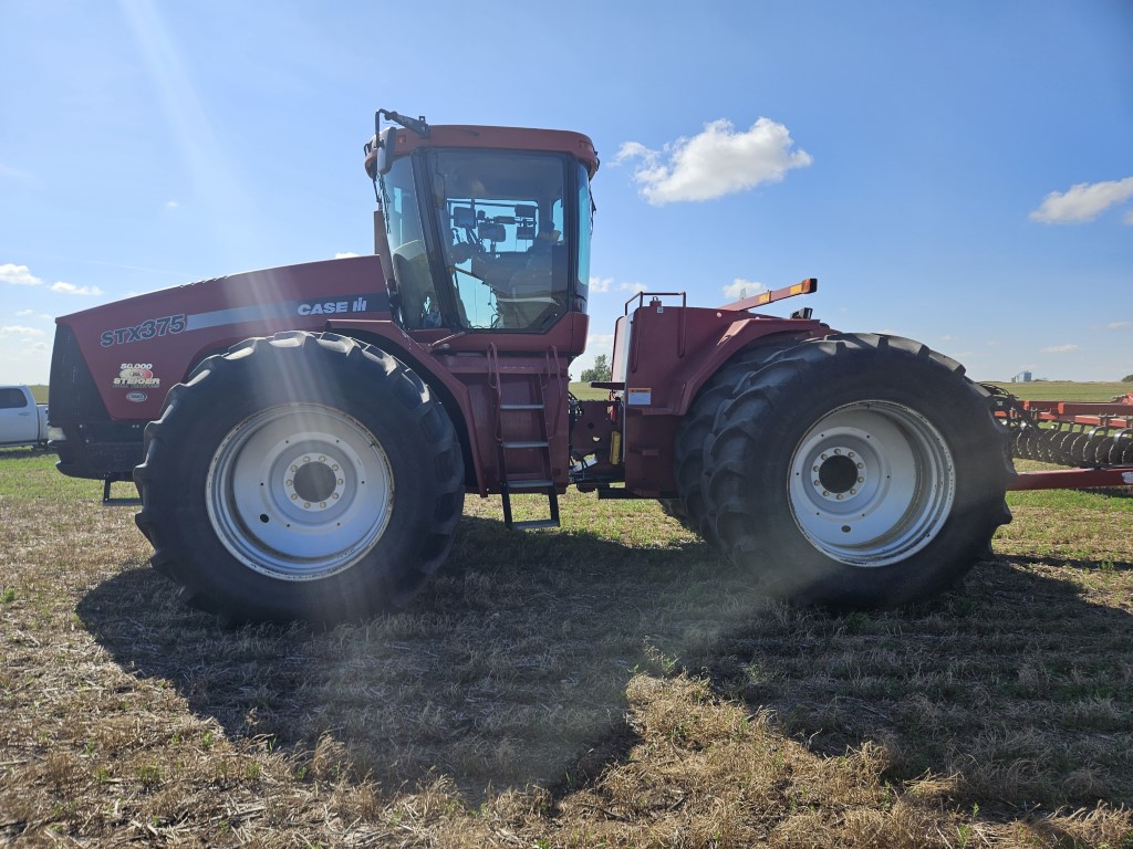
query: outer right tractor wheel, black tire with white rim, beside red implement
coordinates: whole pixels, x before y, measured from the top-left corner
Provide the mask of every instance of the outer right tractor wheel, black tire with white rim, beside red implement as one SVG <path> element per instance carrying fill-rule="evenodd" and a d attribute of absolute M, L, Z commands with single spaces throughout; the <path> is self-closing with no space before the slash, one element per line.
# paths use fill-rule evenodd
<path fill-rule="evenodd" d="M 922 599 L 989 557 L 1011 521 L 1007 439 L 988 393 L 925 345 L 806 342 L 721 408 L 708 521 L 773 594 L 837 608 Z"/>

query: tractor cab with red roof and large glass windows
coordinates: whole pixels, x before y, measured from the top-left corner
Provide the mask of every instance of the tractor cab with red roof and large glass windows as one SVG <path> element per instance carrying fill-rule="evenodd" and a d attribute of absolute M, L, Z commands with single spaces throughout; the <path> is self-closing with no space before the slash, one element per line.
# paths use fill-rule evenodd
<path fill-rule="evenodd" d="M 385 117 L 398 126 L 382 128 Z M 560 130 L 377 113 L 375 252 L 407 331 L 547 332 L 586 312 L 598 158 Z"/>

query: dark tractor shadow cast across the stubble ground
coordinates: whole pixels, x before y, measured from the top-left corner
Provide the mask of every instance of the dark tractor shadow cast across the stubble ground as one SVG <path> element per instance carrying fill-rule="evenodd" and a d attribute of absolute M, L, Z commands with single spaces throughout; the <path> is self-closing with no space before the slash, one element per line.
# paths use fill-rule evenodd
<path fill-rule="evenodd" d="M 768 602 L 691 538 L 647 548 L 466 517 L 411 608 L 367 623 L 222 631 L 136 567 L 78 615 L 230 737 L 299 758 L 331 741 L 389 788 L 564 791 L 638 741 L 634 675 L 687 671 L 819 754 L 880 744 L 893 780 L 956 774 L 957 798 L 981 805 L 1014 796 L 1008 777 L 1038 803 L 1133 800 L 1131 617 L 1022 559 L 930 604 L 833 616 Z"/>

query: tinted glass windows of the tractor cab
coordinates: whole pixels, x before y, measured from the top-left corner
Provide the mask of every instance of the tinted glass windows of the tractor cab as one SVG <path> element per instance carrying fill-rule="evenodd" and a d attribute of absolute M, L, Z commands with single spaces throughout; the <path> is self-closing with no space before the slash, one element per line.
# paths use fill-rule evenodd
<path fill-rule="evenodd" d="M 427 201 L 415 200 L 409 157 L 383 180 L 408 327 L 539 332 L 571 309 L 586 310 L 590 199 L 582 165 L 505 151 L 414 158 Z M 423 225 L 436 233 L 428 240 L 435 245 L 426 246 Z"/>

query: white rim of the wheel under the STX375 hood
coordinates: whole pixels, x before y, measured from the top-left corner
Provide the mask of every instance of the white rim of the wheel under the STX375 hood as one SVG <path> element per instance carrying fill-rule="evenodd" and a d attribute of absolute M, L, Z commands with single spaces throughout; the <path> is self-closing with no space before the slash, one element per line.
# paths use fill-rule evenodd
<path fill-rule="evenodd" d="M 205 488 L 224 547 L 288 581 L 357 563 L 393 507 L 393 473 L 374 435 L 317 404 L 270 408 L 237 424 L 213 455 Z"/>

